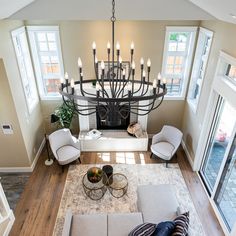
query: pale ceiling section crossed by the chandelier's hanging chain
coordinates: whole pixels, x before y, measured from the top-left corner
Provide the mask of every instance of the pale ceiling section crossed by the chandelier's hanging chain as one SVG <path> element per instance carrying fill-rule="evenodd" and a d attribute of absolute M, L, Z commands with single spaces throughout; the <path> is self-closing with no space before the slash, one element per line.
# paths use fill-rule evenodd
<path fill-rule="evenodd" d="M 188 0 L 116 0 L 120 20 L 214 19 Z M 36 0 L 11 19 L 108 20 L 111 0 Z"/>

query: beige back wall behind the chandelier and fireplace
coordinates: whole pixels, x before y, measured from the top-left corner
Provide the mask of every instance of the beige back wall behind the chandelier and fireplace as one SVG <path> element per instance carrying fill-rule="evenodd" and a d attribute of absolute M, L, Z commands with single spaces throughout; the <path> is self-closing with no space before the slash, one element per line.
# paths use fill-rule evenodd
<path fill-rule="evenodd" d="M 130 44 L 135 43 L 135 62 L 139 65 L 140 58 L 152 61 L 151 80 L 161 71 L 162 55 L 166 26 L 198 26 L 199 21 L 117 21 L 116 40 L 121 45 L 122 59 L 130 58 Z M 109 21 L 60 21 L 36 22 L 27 21 L 27 25 L 60 26 L 60 38 L 64 69 L 74 79 L 78 79 L 77 59 L 81 57 L 84 75 L 94 78 L 92 42 L 96 41 L 98 60 L 106 58 L 106 44 L 111 41 L 111 24 Z M 139 66 L 137 66 L 139 68 Z M 136 72 L 139 75 L 139 71 Z M 58 103 L 42 102 L 43 115 L 47 131 L 50 131 L 48 119 Z M 148 132 L 156 133 L 163 124 L 171 124 L 181 128 L 184 101 L 165 101 L 161 107 L 148 117 Z M 74 123 L 74 128 L 78 128 Z"/>

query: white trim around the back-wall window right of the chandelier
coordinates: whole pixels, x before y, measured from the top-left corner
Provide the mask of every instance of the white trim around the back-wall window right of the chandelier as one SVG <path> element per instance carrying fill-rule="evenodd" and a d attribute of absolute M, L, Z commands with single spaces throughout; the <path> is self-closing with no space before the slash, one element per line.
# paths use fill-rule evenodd
<path fill-rule="evenodd" d="M 187 93 L 187 85 L 189 81 L 190 76 L 190 69 L 191 69 L 191 63 L 193 59 L 193 51 L 195 47 L 195 40 L 196 40 L 196 33 L 197 33 L 197 26 L 167 26 L 166 27 L 166 35 L 165 35 L 165 43 L 164 43 L 164 52 L 163 52 L 163 59 L 162 59 L 162 75 L 164 76 L 164 68 L 165 63 L 167 59 L 167 48 L 169 43 L 169 33 L 170 32 L 191 32 L 191 37 L 189 40 L 189 49 L 188 49 L 188 57 L 186 66 L 185 66 L 185 72 L 184 72 L 184 78 L 183 78 L 183 84 L 182 84 L 182 92 L 180 95 L 170 96 L 166 95 L 165 100 L 185 100 L 186 93 Z"/>

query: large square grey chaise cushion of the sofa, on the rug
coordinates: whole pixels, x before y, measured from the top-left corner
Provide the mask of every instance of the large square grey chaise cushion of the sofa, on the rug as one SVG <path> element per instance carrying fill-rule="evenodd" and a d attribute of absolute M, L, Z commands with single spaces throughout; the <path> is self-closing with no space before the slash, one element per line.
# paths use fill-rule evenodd
<path fill-rule="evenodd" d="M 159 223 L 176 217 L 178 202 L 172 185 L 138 186 L 138 210 L 143 213 L 144 222 Z"/>

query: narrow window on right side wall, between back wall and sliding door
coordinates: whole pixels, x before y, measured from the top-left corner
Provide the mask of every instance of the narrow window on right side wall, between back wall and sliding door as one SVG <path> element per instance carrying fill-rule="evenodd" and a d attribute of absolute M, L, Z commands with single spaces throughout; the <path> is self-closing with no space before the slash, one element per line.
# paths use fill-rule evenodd
<path fill-rule="evenodd" d="M 194 112 L 196 112 L 198 106 L 199 96 L 201 93 L 202 83 L 211 48 L 212 37 L 212 31 L 200 28 L 188 92 L 188 101 Z"/>

